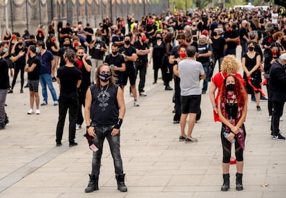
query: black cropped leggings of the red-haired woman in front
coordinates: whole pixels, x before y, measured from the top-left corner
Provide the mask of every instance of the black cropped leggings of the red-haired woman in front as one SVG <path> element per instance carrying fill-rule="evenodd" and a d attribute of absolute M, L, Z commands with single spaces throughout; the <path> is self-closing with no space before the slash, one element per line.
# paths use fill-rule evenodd
<path fill-rule="evenodd" d="M 225 129 L 223 129 L 224 127 L 222 127 L 222 131 L 220 132 L 220 138 L 222 139 L 222 162 L 223 163 L 229 163 L 230 159 L 231 159 L 231 143 L 227 140 L 227 138 L 225 138 L 225 136 L 223 136 L 223 132 L 225 132 Z M 242 125 L 243 131 L 245 133 L 245 125 Z M 246 133 L 245 133 L 245 137 L 246 137 Z M 234 143 L 234 146 L 236 148 L 236 161 L 243 161 L 243 150 L 240 147 L 239 143 L 238 143 L 238 139 L 236 139 L 236 142 Z"/>

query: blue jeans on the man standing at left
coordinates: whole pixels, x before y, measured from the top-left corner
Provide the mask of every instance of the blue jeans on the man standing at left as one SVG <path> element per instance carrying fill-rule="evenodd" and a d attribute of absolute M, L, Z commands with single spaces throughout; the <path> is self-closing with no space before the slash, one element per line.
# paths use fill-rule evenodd
<path fill-rule="evenodd" d="M 57 93 L 55 92 L 55 88 L 53 86 L 52 75 L 48 73 L 44 73 L 40 75 L 40 82 L 41 82 L 41 93 L 43 94 L 44 101 L 48 102 L 48 92 L 47 92 L 47 85 L 48 89 L 50 89 L 50 94 L 52 94 L 54 102 L 57 101 Z"/>

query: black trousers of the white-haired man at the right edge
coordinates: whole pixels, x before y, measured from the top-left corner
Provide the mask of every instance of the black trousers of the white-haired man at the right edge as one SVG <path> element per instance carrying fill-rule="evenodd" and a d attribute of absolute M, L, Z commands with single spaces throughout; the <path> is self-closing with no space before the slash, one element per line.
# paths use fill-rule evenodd
<path fill-rule="evenodd" d="M 271 120 L 271 132 L 274 134 L 274 136 L 278 135 L 280 132 L 279 120 L 283 114 L 284 103 L 285 102 L 272 101 L 273 111 Z"/>

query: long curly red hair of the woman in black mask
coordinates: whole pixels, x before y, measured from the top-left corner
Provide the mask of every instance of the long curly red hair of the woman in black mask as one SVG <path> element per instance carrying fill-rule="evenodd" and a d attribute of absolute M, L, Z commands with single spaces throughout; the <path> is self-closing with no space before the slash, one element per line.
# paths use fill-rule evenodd
<path fill-rule="evenodd" d="M 229 74 L 227 75 L 227 77 L 225 77 L 225 80 L 223 80 L 223 84 L 220 89 L 220 101 L 222 103 L 227 103 L 227 87 L 225 86 L 225 84 L 227 83 L 227 78 L 229 78 L 230 76 L 232 76 L 234 78 L 234 81 L 236 82 L 236 86 L 233 93 L 236 94 L 236 101 L 238 102 L 238 107 L 243 107 L 247 102 L 247 93 L 245 91 L 245 87 L 243 87 L 243 84 L 241 84 L 240 80 L 236 77 L 236 75 Z"/>

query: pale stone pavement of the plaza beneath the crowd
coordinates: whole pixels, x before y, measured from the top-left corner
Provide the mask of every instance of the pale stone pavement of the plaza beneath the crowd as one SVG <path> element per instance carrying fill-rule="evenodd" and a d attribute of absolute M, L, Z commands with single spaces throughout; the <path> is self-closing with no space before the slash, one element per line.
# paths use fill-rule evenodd
<path fill-rule="evenodd" d="M 221 192 L 222 147 L 220 123 L 213 123 L 208 95 L 202 95 L 202 118 L 193 136 L 198 143 L 179 142 L 180 125 L 173 124 L 172 94 L 164 91 L 162 81 L 152 84 L 149 66 L 146 93 L 140 107 L 126 89 L 126 116 L 122 125 L 121 152 L 128 192 L 116 188 L 112 157 L 105 143 L 99 190 L 85 193 L 92 152 L 77 131 L 77 147 L 68 147 L 68 127 L 61 147 L 55 147 L 57 109 L 49 95 L 48 106 L 40 107 L 41 115 L 27 115 L 28 89 L 8 94 L 6 111 L 10 123 L 1 130 L 0 197 L 263 197 L 286 196 L 285 141 L 270 138 L 267 102 L 262 111 L 248 102 L 247 139 L 243 184 L 235 190 L 235 165 L 231 165 L 231 188 Z M 58 90 L 57 84 L 54 84 Z M 265 89 L 265 87 L 263 87 Z M 58 93 L 58 91 L 57 91 Z M 42 98 L 42 97 L 41 97 Z M 286 117 L 280 123 L 285 133 Z M 83 126 L 85 128 L 85 126 Z M 285 135 L 285 134 L 284 134 Z M 262 187 L 262 185 L 268 186 Z"/>

